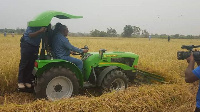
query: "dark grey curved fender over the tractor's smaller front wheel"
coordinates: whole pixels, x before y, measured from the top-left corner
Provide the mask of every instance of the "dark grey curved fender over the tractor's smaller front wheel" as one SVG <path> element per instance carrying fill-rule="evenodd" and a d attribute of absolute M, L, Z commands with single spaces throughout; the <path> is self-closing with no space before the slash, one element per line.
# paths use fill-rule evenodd
<path fill-rule="evenodd" d="M 106 76 L 106 74 L 108 74 L 110 71 L 117 69 L 117 68 L 119 68 L 119 67 L 109 66 L 109 67 L 105 68 L 98 76 L 97 86 L 101 86 L 101 83 L 102 83 L 104 77 Z"/>

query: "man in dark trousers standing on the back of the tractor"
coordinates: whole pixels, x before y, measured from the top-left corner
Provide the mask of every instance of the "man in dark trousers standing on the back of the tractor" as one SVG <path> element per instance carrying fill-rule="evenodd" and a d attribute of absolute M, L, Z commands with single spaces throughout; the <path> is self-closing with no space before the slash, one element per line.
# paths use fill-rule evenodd
<path fill-rule="evenodd" d="M 34 62 L 38 58 L 39 46 L 43 37 L 45 27 L 27 27 L 24 35 L 21 38 L 21 60 L 19 64 L 18 74 L 18 90 L 28 92 L 27 89 L 32 89 L 32 81 L 34 76 L 32 70 Z"/>

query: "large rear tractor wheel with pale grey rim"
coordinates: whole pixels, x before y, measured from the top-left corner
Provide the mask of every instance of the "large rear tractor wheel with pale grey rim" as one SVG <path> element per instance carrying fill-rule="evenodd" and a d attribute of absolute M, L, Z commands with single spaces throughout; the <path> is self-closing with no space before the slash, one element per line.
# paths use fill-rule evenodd
<path fill-rule="evenodd" d="M 77 95 L 79 83 L 73 72 L 69 69 L 58 67 L 51 68 L 38 77 L 34 89 L 37 98 L 58 100 Z"/>

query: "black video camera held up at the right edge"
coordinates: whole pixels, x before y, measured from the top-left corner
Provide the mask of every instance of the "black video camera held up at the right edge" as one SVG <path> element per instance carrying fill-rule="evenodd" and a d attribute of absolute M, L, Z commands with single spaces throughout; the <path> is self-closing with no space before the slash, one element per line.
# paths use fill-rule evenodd
<path fill-rule="evenodd" d="M 178 51 L 177 52 L 177 59 L 178 60 L 184 60 L 190 57 L 191 53 L 193 53 L 194 60 L 200 61 L 200 51 L 193 51 L 193 48 L 198 48 L 200 45 L 182 45 L 182 49 L 187 49 L 188 51 Z"/>

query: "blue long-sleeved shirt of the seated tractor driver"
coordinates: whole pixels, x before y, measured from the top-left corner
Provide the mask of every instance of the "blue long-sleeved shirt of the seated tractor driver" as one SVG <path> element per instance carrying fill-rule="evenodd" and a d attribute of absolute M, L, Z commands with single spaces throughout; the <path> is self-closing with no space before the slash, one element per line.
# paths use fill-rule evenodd
<path fill-rule="evenodd" d="M 52 50 L 58 59 L 67 60 L 67 57 L 70 56 L 70 51 L 75 51 L 82 53 L 83 50 L 77 47 L 74 47 L 61 33 L 57 33 L 52 39 Z"/>

